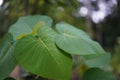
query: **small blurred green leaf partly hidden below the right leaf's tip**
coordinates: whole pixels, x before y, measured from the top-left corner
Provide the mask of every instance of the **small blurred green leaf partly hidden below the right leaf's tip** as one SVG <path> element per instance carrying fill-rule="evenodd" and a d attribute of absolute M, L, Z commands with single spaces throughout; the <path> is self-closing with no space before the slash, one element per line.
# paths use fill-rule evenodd
<path fill-rule="evenodd" d="M 85 59 L 86 65 L 88 65 L 89 67 L 103 68 L 110 63 L 111 55 L 109 53 L 106 53 L 106 54 L 89 55 L 83 57 Z"/>

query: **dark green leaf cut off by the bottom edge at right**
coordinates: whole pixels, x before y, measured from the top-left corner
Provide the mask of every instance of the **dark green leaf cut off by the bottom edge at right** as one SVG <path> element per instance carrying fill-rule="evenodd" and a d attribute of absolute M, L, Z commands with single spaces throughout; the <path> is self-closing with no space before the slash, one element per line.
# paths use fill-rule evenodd
<path fill-rule="evenodd" d="M 116 80 L 116 79 L 111 73 L 105 72 L 99 68 L 91 68 L 85 72 L 83 80 Z"/>

